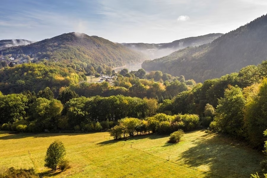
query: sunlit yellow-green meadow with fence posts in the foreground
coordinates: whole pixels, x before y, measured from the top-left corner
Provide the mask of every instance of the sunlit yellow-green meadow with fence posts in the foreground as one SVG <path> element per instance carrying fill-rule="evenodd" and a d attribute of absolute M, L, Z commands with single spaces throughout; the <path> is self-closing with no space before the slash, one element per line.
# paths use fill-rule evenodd
<path fill-rule="evenodd" d="M 48 146 L 61 140 L 71 169 L 49 173 Z M 9 134 L 0 132 L 0 167 L 34 167 L 43 177 L 249 177 L 264 156 L 204 131 L 186 133 L 178 144 L 168 136 L 144 135 L 115 141 L 93 134 Z M 29 155 L 28 151 L 31 153 Z"/>

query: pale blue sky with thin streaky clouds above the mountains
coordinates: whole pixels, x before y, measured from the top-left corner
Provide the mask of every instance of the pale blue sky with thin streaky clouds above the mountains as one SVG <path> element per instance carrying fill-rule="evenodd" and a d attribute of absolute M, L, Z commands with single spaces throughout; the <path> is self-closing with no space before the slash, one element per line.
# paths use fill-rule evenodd
<path fill-rule="evenodd" d="M 0 40 L 69 32 L 119 43 L 227 33 L 267 14 L 266 0 L 1 0 Z"/>

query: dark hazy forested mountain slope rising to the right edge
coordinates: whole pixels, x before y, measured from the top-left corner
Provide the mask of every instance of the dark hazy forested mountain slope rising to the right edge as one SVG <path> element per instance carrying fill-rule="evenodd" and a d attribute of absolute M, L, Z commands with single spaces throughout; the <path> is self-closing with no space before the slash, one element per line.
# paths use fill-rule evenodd
<path fill-rule="evenodd" d="M 173 76 L 203 82 L 237 72 L 267 59 L 267 15 L 198 47 L 187 47 L 168 56 L 144 61 L 147 70 L 160 70 Z"/>

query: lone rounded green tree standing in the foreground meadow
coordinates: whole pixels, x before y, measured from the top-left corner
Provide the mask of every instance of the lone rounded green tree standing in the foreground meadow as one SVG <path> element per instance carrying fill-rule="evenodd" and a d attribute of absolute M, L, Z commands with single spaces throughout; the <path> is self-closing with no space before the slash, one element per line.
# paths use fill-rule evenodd
<path fill-rule="evenodd" d="M 50 144 L 45 155 L 45 167 L 51 168 L 53 171 L 57 170 L 58 164 L 63 161 L 66 155 L 64 144 L 56 140 Z"/>

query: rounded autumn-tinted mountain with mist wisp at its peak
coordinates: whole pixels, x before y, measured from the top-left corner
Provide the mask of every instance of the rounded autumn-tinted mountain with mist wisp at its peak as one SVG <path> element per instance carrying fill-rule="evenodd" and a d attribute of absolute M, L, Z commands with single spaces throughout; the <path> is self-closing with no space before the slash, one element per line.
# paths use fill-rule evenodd
<path fill-rule="evenodd" d="M 98 36 L 81 33 L 67 33 L 26 46 L 9 47 L 2 50 L 7 54 L 33 54 L 39 59 L 48 58 L 61 64 L 74 63 L 77 68 L 86 66 L 123 66 L 141 63 L 147 56 L 140 52 L 111 42 Z M 0 50 L 1 53 L 1 50 Z"/>

